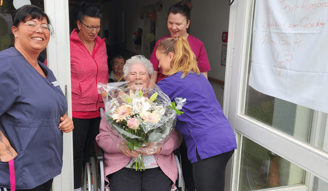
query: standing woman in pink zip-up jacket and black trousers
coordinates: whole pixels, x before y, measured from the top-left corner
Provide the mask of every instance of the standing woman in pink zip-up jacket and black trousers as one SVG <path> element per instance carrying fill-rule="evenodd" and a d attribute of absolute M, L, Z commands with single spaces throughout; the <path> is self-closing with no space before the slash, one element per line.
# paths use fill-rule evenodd
<path fill-rule="evenodd" d="M 74 190 L 81 190 L 82 167 L 95 156 L 93 142 L 99 133 L 100 112 L 104 107 L 97 83 L 108 82 L 107 53 L 101 29 L 101 10 L 97 5 L 79 3 L 76 24 L 70 36 Z"/>

